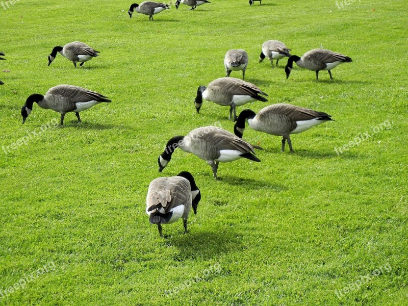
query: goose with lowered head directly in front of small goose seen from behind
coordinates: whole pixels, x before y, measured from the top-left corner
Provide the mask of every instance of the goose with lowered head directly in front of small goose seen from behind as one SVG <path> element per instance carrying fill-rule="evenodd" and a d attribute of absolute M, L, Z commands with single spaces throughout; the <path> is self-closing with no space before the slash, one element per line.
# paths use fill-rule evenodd
<path fill-rule="evenodd" d="M 203 85 L 198 87 L 197 96 L 194 100 L 195 109 L 197 113 L 200 112 L 202 99 L 204 98 L 221 106 L 230 106 L 230 117 L 228 120 L 231 120 L 234 113 L 235 121 L 237 120 L 236 106 L 241 106 L 255 100 L 268 101 L 268 99 L 260 96 L 260 94 L 268 96 L 251 83 L 236 78 L 219 78 L 208 84 L 208 87 Z"/>

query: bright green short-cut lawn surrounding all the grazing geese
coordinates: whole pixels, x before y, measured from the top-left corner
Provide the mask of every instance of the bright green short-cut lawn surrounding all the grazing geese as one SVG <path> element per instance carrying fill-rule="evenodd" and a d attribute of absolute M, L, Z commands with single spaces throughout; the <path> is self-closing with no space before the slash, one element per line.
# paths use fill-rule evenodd
<path fill-rule="evenodd" d="M 406 0 L 340 9 L 335 0 L 214 0 L 194 11 L 172 5 L 155 22 L 130 19 L 130 4 L 0 7 L 0 71 L 11 71 L 0 72 L 0 304 L 408 304 Z M 286 80 L 286 59 L 274 69 L 258 62 L 269 39 L 295 55 L 323 47 L 353 62 L 334 69 L 334 81 L 297 66 Z M 74 69 L 58 55 L 47 67 L 54 46 L 77 40 L 100 56 Z M 159 174 L 172 136 L 212 124 L 233 131 L 228 108 L 205 102 L 197 114 L 193 103 L 199 85 L 224 76 L 231 48 L 248 52 L 246 81 L 269 94 L 237 114 L 289 103 L 336 121 L 292 136 L 293 154 L 247 126 L 262 162 L 221 164 L 220 181 L 181 150 Z M 22 125 L 25 99 L 59 84 L 112 103 L 81 113 L 82 124 L 68 113 L 63 127 L 34 105 Z M 42 133 L 16 144 L 33 132 Z M 163 239 L 145 214 L 147 187 L 182 170 L 202 200 L 190 233 L 179 221 L 163 226 Z"/>

